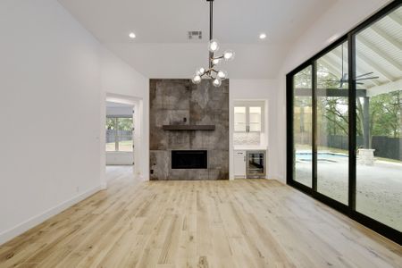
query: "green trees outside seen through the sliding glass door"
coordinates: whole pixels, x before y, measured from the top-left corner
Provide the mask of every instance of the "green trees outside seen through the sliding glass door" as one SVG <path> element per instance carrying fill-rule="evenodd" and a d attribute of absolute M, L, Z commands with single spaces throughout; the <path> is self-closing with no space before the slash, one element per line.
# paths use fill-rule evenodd
<path fill-rule="evenodd" d="M 306 90 L 312 88 L 312 68 L 307 67 L 294 77 L 295 89 L 295 134 L 311 136 L 311 125 L 306 125 L 306 118 L 311 117 L 312 97 L 306 96 Z M 325 96 L 328 89 L 345 90 L 345 96 Z M 305 94 L 297 96 L 304 90 Z M 348 83 L 339 88 L 339 78 L 317 62 L 317 129 L 325 135 L 348 136 Z M 319 94 L 318 94 L 319 93 Z M 369 105 L 368 113 L 364 106 Z M 306 110 L 306 107 L 309 109 Z M 371 147 L 373 136 L 389 138 L 401 137 L 402 90 L 356 98 L 356 134 L 364 137 L 364 144 Z M 306 113 L 309 112 L 309 113 Z M 367 111 L 366 111 L 367 112 Z M 365 118 L 367 117 L 367 118 Z M 365 126 L 365 128 L 364 128 Z M 310 129 L 309 129 L 310 128 Z M 301 139 L 301 141 L 303 138 Z M 302 142 L 303 143 L 303 142 Z"/>

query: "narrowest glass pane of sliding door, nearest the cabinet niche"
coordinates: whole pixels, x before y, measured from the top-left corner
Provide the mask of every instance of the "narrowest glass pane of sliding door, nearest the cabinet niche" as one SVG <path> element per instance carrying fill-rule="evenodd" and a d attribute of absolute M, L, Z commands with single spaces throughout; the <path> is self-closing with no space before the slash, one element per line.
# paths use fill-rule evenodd
<path fill-rule="evenodd" d="M 312 187 L 313 79 L 312 66 L 293 77 L 293 179 Z"/>

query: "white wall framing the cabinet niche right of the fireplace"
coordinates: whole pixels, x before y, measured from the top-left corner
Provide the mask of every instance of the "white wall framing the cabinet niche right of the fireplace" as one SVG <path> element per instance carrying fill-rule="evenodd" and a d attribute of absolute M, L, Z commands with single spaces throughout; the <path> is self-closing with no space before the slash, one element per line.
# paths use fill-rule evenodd
<path fill-rule="evenodd" d="M 233 103 L 235 100 L 268 100 L 268 178 L 277 179 L 278 163 L 276 162 L 276 125 L 277 125 L 277 105 L 278 95 L 277 80 L 230 80 L 230 180 L 233 174 Z"/>

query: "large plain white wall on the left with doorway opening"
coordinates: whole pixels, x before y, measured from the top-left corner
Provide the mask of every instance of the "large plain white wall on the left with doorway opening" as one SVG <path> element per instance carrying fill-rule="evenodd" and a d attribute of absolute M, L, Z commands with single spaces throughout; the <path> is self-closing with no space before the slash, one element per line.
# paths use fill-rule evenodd
<path fill-rule="evenodd" d="M 1 245 L 105 187 L 105 92 L 147 81 L 57 1 L 0 1 L 0 32 Z"/>

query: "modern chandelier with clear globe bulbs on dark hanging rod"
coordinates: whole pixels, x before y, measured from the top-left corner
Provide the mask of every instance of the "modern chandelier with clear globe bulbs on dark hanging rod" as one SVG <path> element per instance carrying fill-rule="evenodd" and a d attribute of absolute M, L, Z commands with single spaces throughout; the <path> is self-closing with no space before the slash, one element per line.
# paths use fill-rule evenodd
<path fill-rule="evenodd" d="M 206 0 L 209 2 L 209 67 L 205 69 L 203 67 L 197 69 L 196 75 L 192 81 L 194 84 L 199 84 L 203 78 L 213 80 L 214 87 L 220 87 L 222 80 L 227 79 L 228 73 L 226 71 L 216 70 L 215 66 L 224 61 L 231 61 L 234 58 L 234 52 L 226 50 L 222 55 L 215 56 L 214 53 L 219 50 L 219 43 L 213 38 L 213 19 L 214 19 L 214 0 Z"/>

